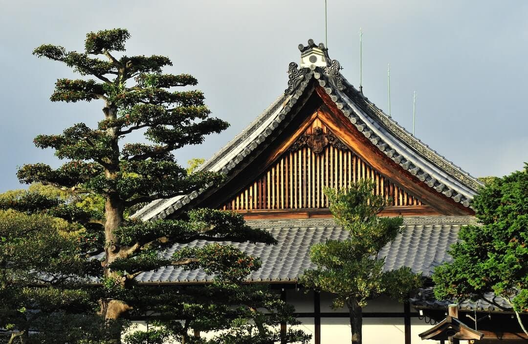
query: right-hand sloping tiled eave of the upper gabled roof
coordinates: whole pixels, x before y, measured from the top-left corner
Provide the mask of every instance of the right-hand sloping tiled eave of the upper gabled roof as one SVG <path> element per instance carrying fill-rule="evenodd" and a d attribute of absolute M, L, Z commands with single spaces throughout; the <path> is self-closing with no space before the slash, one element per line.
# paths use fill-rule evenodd
<path fill-rule="evenodd" d="M 414 138 L 403 127 L 375 107 L 374 104 L 368 102 L 359 91 L 355 90 L 341 76 L 339 72 L 341 68 L 337 61 L 333 60 L 331 65 L 324 68 L 310 66 L 309 69 L 303 69 L 304 77 L 306 78 L 312 74 L 318 80 L 319 86 L 323 87 L 330 99 L 335 103 L 337 109 L 340 109 L 351 123 L 389 158 L 397 162 L 404 170 L 417 176 L 420 181 L 425 182 L 438 193 L 442 193 L 455 200 L 455 202 L 469 207 L 471 200 L 477 193 L 478 187 L 482 183 L 421 143 L 421 141 Z M 299 75 L 302 73 L 296 71 L 295 74 Z M 379 123 L 377 119 L 366 114 L 348 96 L 345 92 L 347 89 L 352 90 L 356 95 L 360 95 L 361 99 L 372 106 L 373 110 L 378 112 L 378 115 L 381 115 L 382 119 L 386 120 L 385 122 L 389 125 Z M 409 144 L 409 142 L 412 144 Z M 458 176 L 458 179 L 455 176 Z"/>

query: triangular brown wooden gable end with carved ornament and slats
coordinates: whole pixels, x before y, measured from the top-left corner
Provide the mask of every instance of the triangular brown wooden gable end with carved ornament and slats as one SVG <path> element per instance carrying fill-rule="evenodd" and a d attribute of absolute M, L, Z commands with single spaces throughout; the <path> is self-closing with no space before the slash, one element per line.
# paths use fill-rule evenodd
<path fill-rule="evenodd" d="M 322 88 L 315 87 L 315 91 L 313 97 L 319 99 L 316 109 L 305 114 L 294 129 L 290 127 L 290 134 L 266 157 L 259 158 L 259 169 L 250 172 L 253 179 L 231 190 L 231 196 L 218 208 L 247 218 L 326 217 L 330 216 L 323 192 L 326 186 L 346 188 L 351 182 L 371 179 L 375 193 L 388 201 L 383 214 L 473 213 L 403 170 L 333 108 Z"/>

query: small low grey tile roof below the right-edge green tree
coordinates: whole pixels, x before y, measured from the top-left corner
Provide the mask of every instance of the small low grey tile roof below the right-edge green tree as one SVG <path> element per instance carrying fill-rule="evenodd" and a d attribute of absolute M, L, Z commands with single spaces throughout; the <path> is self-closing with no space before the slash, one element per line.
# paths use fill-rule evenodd
<path fill-rule="evenodd" d="M 511 309 L 510 304 L 507 301 L 499 296 L 496 296 L 493 292 L 487 292 L 484 294 L 486 300 L 497 303 L 502 308 Z M 474 311 L 484 311 L 484 312 L 503 312 L 504 310 L 501 307 L 497 307 L 493 303 L 489 303 L 484 300 L 472 301 L 472 300 L 458 300 L 454 302 L 453 300 L 444 300 L 440 301 L 435 299 L 435 294 L 433 292 L 433 287 L 421 289 L 418 294 L 410 299 L 411 304 L 417 308 L 426 308 L 426 309 L 447 309 L 447 306 L 451 303 L 458 303 L 458 309 L 460 310 L 470 310 Z M 513 312 L 513 311 L 511 311 Z"/>

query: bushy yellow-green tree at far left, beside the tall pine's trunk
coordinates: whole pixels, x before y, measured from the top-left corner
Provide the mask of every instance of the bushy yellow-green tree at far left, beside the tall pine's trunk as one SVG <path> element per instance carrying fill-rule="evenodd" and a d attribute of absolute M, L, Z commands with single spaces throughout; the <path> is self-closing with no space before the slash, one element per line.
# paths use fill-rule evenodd
<path fill-rule="evenodd" d="M 83 288 L 87 280 L 81 276 L 94 266 L 78 255 L 82 231 L 49 214 L 24 212 L 30 196 L 31 201 L 49 200 L 49 195 L 65 193 L 42 185 L 30 189 L 31 194 L 17 190 L 0 195 L 0 209 L 18 209 L 0 210 L 0 328 L 12 343 L 103 339 L 106 327 L 95 314 L 97 302 Z M 36 333 L 30 337 L 30 331 Z"/>

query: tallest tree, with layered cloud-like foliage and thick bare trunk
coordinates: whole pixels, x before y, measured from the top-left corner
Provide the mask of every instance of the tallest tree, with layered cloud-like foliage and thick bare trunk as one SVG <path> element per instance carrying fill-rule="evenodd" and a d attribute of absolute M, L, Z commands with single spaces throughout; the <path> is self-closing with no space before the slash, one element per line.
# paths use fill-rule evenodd
<path fill-rule="evenodd" d="M 64 200 L 29 192 L 14 198 L 6 207 L 64 219 L 80 228 L 80 244 L 67 258 L 79 260 L 82 267 L 89 269 L 78 269 L 77 275 L 70 279 L 98 280 L 90 301 L 97 301 L 98 314 L 110 333 L 105 342 L 120 342 L 119 331 L 109 331 L 120 319 L 130 314 L 144 316 L 163 305 L 171 307 L 161 309 L 166 318 L 159 319 L 163 332 L 158 333 L 161 337 L 156 340 L 172 336 L 186 342 L 194 340 L 187 335 L 192 326 L 215 329 L 214 321 L 205 317 L 207 304 L 217 307 L 213 313 L 218 319 L 229 308 L 227 303 L 209 299 L 204 304 L 203 297 L 199 298 L 206 294 L 203 290 L 188 288 L 187 293 L 187 288 L 149 288 L 135 278 L 144 271 L 166 266 L 201 268 L 216 276 L 211 289 L 238 290 L 244 295 L 239 304 L 250 309 L 252 303 L 266 298 L 242 291 L 240 281 L 260 267 L 258 259 L 233 245 L 219 243 L 183 249 L 168 258 L 162 253 L 175 243 L 194 240 L 272 244 L 275 239 L 266 231 L 250 228 L 240 215 L 225 211 L 192 210 L 177 219 L 149 222 L 127 216 L 127 210 L 138 204 L 218 184 L 223 178 L 221 174 L 187 173 L 172 152 L 185 145 L 202 143 L 205 135 L 221 132 L 228 126 L 209 116 L 202 92 L 188 89 L 196 85 L 194 77 L 162 73 L 163 67 L 172 65 L 167 57 L 117 56 L 116 53 L 125 51 L 129 37 L 124 29 L 104 30 L 87 34 L 83 52 L 68 52 L 49 44 L 34 50 L 34 55 L 62 62 L 83 76 L 56 81 L 51 101 L 101 101 L 102 119 L 97 128 L 77 123 L 62 134 L 35 138 L 37 147 L 52 148 L 59 159 L 66 160 L 58 169 L 36 163 L 18 170 L 17 176 L 23 183 L 53 185 L 73 192 L 76 197 Z M 144 132 L 152 144 L 123 143 L 128 134 L 136 131 Z M 97 209 L 99 202 L 104 204 L 103 211 Z M 49 283 L 46 278 L 55 271 L 42 271 L 47 273 L 42 282 Z M 201 322 L 193 318 L 194 311 L 203 316 Z M 252 313 L 253 318 L 260 317 L 259 311 Z M 182 328 L 177 319 L 189 321 L 184 321 L 187 325 Z M 225 322 L 218 326 L 227 327 Z M 149 336 L 158 335 L 138 332 L 129 339 L 135 343 L 157 342 Z"/>

